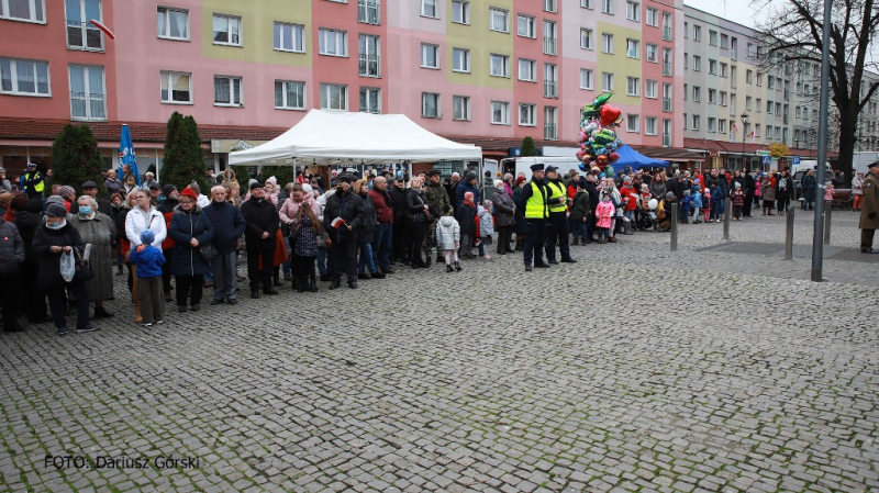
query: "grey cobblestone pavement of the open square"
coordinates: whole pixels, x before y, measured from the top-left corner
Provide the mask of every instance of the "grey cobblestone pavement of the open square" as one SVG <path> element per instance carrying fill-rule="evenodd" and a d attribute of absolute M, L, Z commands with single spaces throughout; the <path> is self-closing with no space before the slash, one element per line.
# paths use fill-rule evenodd
<path fill-rule="evenodd" d="M 783 221 L 731 239 L 783 243 Z M 698 251 L 721 235 L 283 288 L 153 329 L 119 285 L 99 332 L 0 339 L 0 490 L 879 490 L 876 265 L 812 283 L 808 259 Z"/>

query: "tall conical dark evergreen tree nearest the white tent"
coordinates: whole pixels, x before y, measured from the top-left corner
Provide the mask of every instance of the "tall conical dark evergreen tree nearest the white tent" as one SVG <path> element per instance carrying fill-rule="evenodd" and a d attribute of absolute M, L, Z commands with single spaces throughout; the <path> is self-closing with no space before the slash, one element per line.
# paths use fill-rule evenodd
<path fill-rule="evenodd" d="M 165 137 L 165 157 L 162 164 L 162 184 L 173 184 L 178 190 L 196 181 L 202 193 L 209 193 L 204 153 L 196 119 L 174 112 L 168 119 Z"/>

